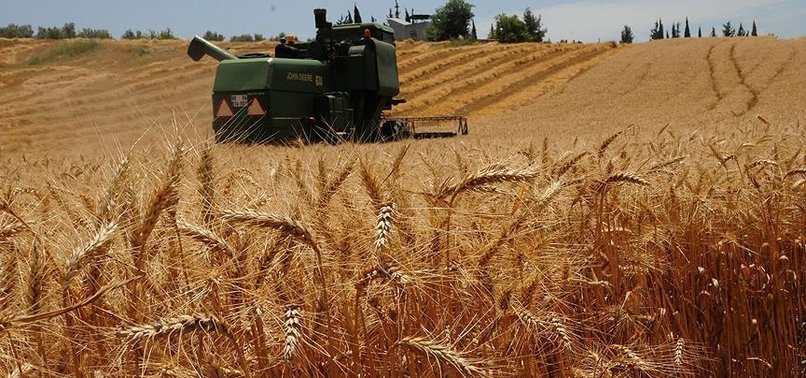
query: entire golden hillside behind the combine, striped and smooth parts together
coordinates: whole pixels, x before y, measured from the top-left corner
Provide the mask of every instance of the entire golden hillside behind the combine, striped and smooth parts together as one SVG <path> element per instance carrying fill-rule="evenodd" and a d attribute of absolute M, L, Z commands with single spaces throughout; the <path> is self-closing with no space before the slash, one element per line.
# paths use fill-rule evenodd
<path fill-rule="evenodd" d="M 222 45 L 237 53 L 273 49 Z M 632 124 L 803 118 L 804 39 L 613 46 L 405 41 L 398 54 L 408 103 L 393 114 L 467 115 L 481 137 L 511 135 L 493 129 L 584 137 Z M 216 62 L 193 62 L 185 48 L 185 41 L 0 40 L 0 151 L 126 146 L 174 127 L 207 137 Z"/>

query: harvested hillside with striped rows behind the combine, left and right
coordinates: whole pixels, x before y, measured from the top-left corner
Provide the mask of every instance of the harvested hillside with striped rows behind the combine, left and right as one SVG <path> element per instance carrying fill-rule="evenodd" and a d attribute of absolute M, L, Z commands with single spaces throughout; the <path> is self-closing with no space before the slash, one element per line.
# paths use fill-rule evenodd
<path fill-rule="evenodd" d="M 152 126 L 192 119 L 206 135 L 216 62 L 185 55 L 185 41 L 0 41 L 0 148 L 122 144 Z M 273 44 L 222 43 L 237 53 Z M 616 51 L 599 45 L 403 42 L 398 115 L 474 118 L 526 104 Z M 146 133 L 149 134 L 149 133 Z"/>

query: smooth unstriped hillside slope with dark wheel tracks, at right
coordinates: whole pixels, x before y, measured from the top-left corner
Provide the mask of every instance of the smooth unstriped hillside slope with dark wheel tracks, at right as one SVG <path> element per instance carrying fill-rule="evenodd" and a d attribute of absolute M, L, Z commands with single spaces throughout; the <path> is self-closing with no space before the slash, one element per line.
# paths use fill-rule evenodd
<path fill-rule="evenodd" d="M 595 139 L 629 125 L 717 133 L 759 115 L 799 127 L 806 121 L 803 88 L 804 38 L 656 41 L 623 50 L 551 95 L 477 127 L 529 127 L 570 139 L 591 133 Z"/>

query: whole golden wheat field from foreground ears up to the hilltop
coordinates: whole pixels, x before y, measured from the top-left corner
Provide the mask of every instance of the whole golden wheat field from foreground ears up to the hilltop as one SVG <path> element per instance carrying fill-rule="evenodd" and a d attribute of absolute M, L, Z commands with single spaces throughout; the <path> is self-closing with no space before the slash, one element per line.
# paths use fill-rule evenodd
<path fill-rule="evenodd" d="M 9 377 L 803 374 L 804 40 L 403 44 L 471 135 L 304 147 L 209 145 L 211 65 L 43 90 L 129 47 L 3 63 Z"/>

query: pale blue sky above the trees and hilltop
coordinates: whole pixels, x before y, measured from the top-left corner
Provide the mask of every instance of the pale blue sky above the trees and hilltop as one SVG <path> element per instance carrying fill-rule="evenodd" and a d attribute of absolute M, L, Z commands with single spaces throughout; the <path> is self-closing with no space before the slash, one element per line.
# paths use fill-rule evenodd
<path fill-rule="evenodd" d="M 399 0 L 401 7 L 417 13 L 431 13 L 444 0 Z M 648 37 L 654 19 L 665 23 L 688 16 L 692 27 L 711 26 L 732 20 L 745 26 L 752 20 L 760 33 L 784 38 L 806 36 L 806 1 L 804 0 L 570 0 L 524 1 L 470 0 L 475 4 L 476 25 L 485 37 L 498 13 L 522 13 L 531 7 L 542 14 L 552 40 L 577 39 L 586 42 L 618 39 L 622 25 L 632 26 L 639 40 Z M 226 36 L 241 33 L 295 33 L 303 38 L 313 35 L 316 7 L 329 11 L 337 19 L 356 3 L 362 15 L 385 18 L 394 0 L 0 0 L 0 24 L 62 25 L 72 21 L 78 28 L 108 29 L 119 36 L 126 29 L 160 30 L 170 27 L 180 37 L 202 34 L 211 29 Z M 402 11 L 401 11 L 402 12 Z"/>

